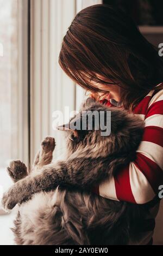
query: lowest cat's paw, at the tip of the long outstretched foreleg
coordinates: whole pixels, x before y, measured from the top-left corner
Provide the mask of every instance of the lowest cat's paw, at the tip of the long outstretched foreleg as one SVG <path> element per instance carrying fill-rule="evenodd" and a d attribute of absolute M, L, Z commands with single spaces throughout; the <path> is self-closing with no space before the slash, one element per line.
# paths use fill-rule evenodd
<path fill-rule="evenodd" d="M 13 209 L 17 204 L 15 198 L 13 197 L 12 190 L 10 189 L 7 193 L 3 194 L 3 198 L 1 201 L 2 209 L 4 211 L 9 212 L 9 210 Z"/>

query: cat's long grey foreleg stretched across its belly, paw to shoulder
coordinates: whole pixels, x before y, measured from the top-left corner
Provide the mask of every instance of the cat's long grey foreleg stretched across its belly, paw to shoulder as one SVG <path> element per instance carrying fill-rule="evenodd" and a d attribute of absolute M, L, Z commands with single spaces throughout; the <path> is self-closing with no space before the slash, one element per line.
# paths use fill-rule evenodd
<path fill-rule="evenodd" d="M 97 183 L 109 177 L 109 172 L 115 169 L 114 166 L 117 166 L 115 164 L 111 159 L 109 163 L 108 157 L 101 159 L 75 157 L 58 160 L 53 164 L 43 166 L 42 170 L 36 175 L 27 176 L 16 182 L 4 194 L 3 207 L 4 209 L 12 209 L 17 203 L 27 200 L 33 193 L 52 190 L 59 185 L 91 189 Z M 89 172 L 86 170 L 89 170 Z"/>

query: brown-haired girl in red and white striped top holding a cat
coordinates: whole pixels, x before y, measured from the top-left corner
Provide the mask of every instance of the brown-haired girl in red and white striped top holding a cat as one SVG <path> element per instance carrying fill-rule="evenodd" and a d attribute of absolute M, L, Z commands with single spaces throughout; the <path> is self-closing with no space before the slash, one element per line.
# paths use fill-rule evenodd
<path fill-rule="evenodd" d="M 93 191 L 113 200 L 149 202 L 151 211 L 140 244 L 152 244 L 163 184 L 163 61 L 158 51 L 130 17 L 99 4 L 74 18 L 62 42 L 59 64 L 91 97 L 134 112 L 145 121 L 135 162 Z"/>

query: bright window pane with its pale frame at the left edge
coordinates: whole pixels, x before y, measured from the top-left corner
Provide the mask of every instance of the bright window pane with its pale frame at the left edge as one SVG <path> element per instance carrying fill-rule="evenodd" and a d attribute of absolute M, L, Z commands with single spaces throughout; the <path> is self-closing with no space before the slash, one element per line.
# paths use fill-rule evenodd
<path fill-rule="evenodd" d="M 20 158 L 28 162 L 28 1 L 0 0 L 0 5 L 0 177 L 2 177 L 10 159 Z M 6 182 L 3 182 L 3 186 L 5 184 Z"/>

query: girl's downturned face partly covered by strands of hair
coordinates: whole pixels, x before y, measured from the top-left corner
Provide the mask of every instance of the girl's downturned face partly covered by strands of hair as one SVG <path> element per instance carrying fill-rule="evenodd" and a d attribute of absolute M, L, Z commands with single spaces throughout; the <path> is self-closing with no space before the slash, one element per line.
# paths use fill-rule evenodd
<path fill-rule="evenodd" d="M 101 75 L 97 75 L 97 76 L 98 76 L 98 78 L 103 79 L 103 77 Z M 105 93 L 103 93 L 103 92 L 91 93 L 91 95 L 95 99 L 100 99 L 100 100 L 102 100 L 102 99 L 107 99 L 107 100 L 115 99 L 117 102 L 121 101 L 121 87 L 120 86 L 118 86 L 116 84 L 115 85 L 103 85 L 103 84 L 99 84 L 99 83 L 97 83 L 95 81 L 92 81 L 92 80 L 91 80 L 91 83 L 96 88 L 101 88 L 103 90 L 106 90 Z"/>

